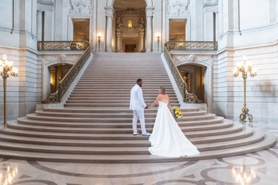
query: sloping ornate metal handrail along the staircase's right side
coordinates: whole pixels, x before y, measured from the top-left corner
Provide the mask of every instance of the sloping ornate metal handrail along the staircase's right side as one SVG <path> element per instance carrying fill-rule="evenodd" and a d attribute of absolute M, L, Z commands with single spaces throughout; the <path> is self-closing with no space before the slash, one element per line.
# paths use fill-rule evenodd
<path fill-rule="evenodd" d="M 202 103 L 201 100 L 198 99 L 198 97 L 196 95 L 193 95 L 192 93 L 188 92 L 188 86 L 186 84 L 186 82 L 183 80 L 183 78 L 181 77 L 181 74 L 179 73 L 178 68 L 176 67 L 176 65 L 174 65 L 174 61 L 167 49 L 167 43 L 165 43 L 164 45 L 164 56 L 165 59 L 167 61 L 167 64 L 170 67 L 170 70 L 174 76 L 174 80 L 176 81 L 178 87 L 179 87 L 179 91 L 181 92 L 181 95 L 183 96 L 183 102 L 190 102 L 190 103 Z"/>

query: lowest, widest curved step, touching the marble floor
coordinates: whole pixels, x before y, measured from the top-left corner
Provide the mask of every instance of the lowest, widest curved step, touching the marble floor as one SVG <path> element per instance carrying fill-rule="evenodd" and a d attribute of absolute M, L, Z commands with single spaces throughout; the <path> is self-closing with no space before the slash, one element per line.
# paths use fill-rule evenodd
<path fill-rule="evenodd" d="M 215 159 L 227 156 L 234 156 L 256 152 L 272 146 L 276 142 L 275 136 L 268 134 L 265 135 L 263 140 L 240 147 L 231 147 L 222 150 L 212 150 L 201 152 L 196 156 L 186 156 L 179 158 L 167 158 L 161 156 L 153 156 L 150 154 L 142 155 L 86 155 L 86 154 L 42 154 L 40 152 L 22 152 L 1 150 L 0 157 L 22 159 L 28 161 L 56 161 L 67 163 L 162 163 L 162 162 L 177 162 L 177 161 L 192 161 L 203 159 Z"/>

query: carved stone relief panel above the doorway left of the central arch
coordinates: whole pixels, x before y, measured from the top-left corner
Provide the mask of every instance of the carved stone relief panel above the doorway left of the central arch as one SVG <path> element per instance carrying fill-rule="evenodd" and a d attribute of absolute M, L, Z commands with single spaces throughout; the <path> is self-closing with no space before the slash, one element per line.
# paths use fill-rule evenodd
<path fill-rule="evenodd" d="M 92 15 L 92 0 L 69 0 L 70 15 Z"/>

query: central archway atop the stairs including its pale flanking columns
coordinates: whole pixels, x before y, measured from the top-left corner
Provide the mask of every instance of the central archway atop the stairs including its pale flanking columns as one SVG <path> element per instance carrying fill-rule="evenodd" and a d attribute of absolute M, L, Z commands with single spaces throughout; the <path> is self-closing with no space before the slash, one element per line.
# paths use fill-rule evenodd
<path fill-rule="evenodd" d="M 106 51 L 152 51 L 153 10 L 152 0 L 107 0 Z"/>

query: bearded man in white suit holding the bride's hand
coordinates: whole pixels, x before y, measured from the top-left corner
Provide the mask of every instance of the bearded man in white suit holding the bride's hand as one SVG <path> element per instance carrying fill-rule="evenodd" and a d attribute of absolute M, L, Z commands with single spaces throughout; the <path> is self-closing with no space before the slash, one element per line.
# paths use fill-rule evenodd
<path fill-rule="evenodd" d="M 143 136 L 151 135 L 147 133 L 145 128 L 144 109 L 147 108 L 147 105 L 145 104 L 143 94 L 142 94 L 142 84 L 143 84 L 142 79 L 137 79 L 137 84 L 133 86 L 133 88 L 131 89 L 131 101 L 130 101 L 129 109 L 133 111 L 133 122 L 132 122 L 133 136 L 139 134 L 137 131 L 138 118 L 141 124 L 142 135 Z"/>

